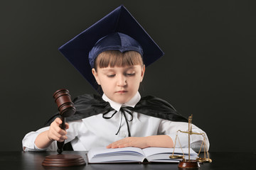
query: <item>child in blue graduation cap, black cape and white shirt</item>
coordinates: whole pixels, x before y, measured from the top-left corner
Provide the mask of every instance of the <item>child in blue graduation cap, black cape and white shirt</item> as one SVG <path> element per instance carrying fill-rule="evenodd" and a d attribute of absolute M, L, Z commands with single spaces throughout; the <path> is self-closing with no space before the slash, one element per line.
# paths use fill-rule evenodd
<path fill-rule="evenodd" d="M 56 141 L 64 140 L 73 150 L 174 147 L 177 130 L 188 130 L 186 118 L 169 103 L 154 96 L 140 96 L 145 67 L 164 52 L 124 6 L 59 50 L 102 96 L 85 94 L 75 98 L 77 111 L 66 119 L 67 130 L 59 128 L 62 122 L 57 114 L 45 128 L 23 138 L 25 151 L 57 150 Z M 203 132 L 195 125 L 192 130 Z M 188 147 L 187 134 L 178 137 L 181 147 Z M 202 141 L 201 135 L 191 135 L 193 149 L 198 150 Z M 209 147 L 207 136 L 206 145 Z"/>

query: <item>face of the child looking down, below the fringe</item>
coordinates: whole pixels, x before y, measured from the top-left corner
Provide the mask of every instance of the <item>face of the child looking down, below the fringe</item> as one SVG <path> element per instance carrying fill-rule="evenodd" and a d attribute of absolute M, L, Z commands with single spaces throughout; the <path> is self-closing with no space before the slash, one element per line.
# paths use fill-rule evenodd
<path fill-rule="evenodd" d="M 112 101 L 126 103 L 139 90 L 144 77 L 145 66 L 133 65 L 126 67 L 106 67 L 92 69 L 97 84 Z"/>

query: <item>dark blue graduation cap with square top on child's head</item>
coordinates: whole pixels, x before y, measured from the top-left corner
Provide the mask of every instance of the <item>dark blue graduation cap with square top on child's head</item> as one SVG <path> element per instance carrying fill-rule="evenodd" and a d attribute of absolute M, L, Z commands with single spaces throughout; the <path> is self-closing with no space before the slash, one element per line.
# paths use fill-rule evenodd
<path fill-rule="evenodd" d="M 142 55 L 146 67 L 164 55 L 124 6 L 114 9 L 58 50 L 96 90 L 98 85 L 92 75 L 92 67 L 100 52 L 134 50 Z"/>

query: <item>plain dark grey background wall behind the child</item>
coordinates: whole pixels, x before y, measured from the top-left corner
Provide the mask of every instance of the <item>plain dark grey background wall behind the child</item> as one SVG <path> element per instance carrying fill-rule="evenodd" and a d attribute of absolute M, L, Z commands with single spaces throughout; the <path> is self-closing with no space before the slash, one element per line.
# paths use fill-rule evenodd
<path fill-rule="evenodd" d="M 58 47 L 124 4 L 165 52 L 140 92 L 205 130 L 210 151 L 256 152 L 255 1 L 1 1 L 2 151 L 56 113 L 53 92 L 95 93 Z M 102 28 L 104 29 L 104 28 Z"/>

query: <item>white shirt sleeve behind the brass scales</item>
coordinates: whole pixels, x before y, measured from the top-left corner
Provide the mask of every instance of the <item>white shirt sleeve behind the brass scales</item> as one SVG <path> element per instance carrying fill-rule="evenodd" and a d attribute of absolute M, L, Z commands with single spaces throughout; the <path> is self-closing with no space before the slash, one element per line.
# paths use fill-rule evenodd
<path fill-rule="evenodd" d="M 188 147 L 188 134 L 178 132 L 178 130 L 188 132 L 188 123 L 161 120 L 161 124 L 159 126 L 159 134 L 169 135 L 169 137 L 171 137 L 171 139 L 174 141 L 174 144 L 176 141 L 176 147 Z M 192 132 L 202 133 L 203 135 L 191 135 L 191 148 L 194 151 L 198 152 L 201 148 L 203 140 L 205 140 L 206 149 L 208 150 L 210 147 L 210 142 L 208 140 L 206 132 L 203 132 L 203 130 L 193 124 Z M 177 134 L 178 138 L 176 139 Z"/>

